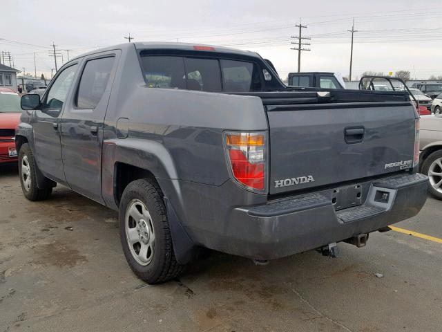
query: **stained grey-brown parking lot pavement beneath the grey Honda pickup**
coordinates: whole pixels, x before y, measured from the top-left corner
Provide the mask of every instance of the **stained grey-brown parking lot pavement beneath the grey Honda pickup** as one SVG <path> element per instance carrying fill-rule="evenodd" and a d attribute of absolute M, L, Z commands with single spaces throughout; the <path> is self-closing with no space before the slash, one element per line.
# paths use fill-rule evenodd
<path fill-rule="evenodd" d="M 441 237 L 441 204 L 397 226 Z M 15 167 L 1 168 L 0 332 L 441 331 L 441 243 L 376 232 L 365 248 L 340 243 L 338 259 L 267 266 L 213 253 L 148 286 L 126 264 L 116 218 L 61 186 L 28 202 Z"/>

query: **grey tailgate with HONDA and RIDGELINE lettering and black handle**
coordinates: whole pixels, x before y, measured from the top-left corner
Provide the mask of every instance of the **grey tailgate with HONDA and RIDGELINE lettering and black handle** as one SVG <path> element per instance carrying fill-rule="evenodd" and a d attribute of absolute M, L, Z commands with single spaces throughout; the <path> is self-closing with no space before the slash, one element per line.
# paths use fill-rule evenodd
<path fill-rule="evenodd" d="M 412 167 L 416 116 L 410 102 L 267 104 L 266 108 L 270 194 Z"/>

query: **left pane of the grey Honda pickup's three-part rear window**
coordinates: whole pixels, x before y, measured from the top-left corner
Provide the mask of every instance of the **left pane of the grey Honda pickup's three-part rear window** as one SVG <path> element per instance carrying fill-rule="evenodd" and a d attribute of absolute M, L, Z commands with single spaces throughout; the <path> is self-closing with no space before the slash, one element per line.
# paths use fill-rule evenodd
<path fill-rule="evenodd" d="M 148 56 L 141 58 L 144 78 L 151 88 L 186 89 L 182 57 Z"/>

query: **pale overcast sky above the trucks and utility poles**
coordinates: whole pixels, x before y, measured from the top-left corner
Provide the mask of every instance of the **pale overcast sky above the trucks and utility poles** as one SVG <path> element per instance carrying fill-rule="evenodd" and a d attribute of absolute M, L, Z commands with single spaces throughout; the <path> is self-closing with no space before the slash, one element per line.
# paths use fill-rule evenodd
<path fill-rule="evenodd" d="M 348 75 L 355 18 L 353 78 L 363 71 L 408 70 L 424 79 L 442 75 L 442 1 L 114 1 L 1 0 L 0 50 L 15 67 L 37 75 L 55 68 L 52 42 L 64 61 L 87 50 L 135 41 L 191 42 L 254 50 L 271 59 L 282 78 L 296 71 L 290 50 L 299 17 L 308 26 L 309 52 L 301 71 Z M 306 41 L 307 42 L 307 41 Z M 61 57 L 58 59 L 61 63 Z M 8 65 L 8 61 L 6 61 Z"/>

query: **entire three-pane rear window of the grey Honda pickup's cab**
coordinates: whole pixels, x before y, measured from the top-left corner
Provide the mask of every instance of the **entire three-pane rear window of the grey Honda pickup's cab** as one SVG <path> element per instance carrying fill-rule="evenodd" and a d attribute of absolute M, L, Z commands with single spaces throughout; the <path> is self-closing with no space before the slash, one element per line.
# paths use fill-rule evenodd
<path fill-rule="evenodd" d="M 258 68 L 252 62 L 146 55 L 141 57 L 141 64 L 151 88 L 249 92 L 262 87 Z"/>

